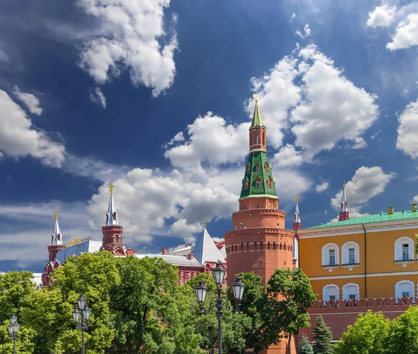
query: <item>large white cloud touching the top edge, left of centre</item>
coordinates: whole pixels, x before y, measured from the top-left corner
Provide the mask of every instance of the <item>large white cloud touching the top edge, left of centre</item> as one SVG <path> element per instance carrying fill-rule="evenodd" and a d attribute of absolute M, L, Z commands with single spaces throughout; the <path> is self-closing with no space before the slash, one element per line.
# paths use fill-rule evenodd
<path fill-rule="evenodd" d="M 80 57 L 80 66 L 95 82 L 104 84 L 127 68 L 132 82 L 152 88 L 153 96 L 171 86 L 178 41 L 173 34 L 163 44 L 164 10 L 170 0 L 79 0 L 78 4 L 100 23 L 100 35 L 85 43 Z M 177 22 L 176 15 L 172 22 Z"/>

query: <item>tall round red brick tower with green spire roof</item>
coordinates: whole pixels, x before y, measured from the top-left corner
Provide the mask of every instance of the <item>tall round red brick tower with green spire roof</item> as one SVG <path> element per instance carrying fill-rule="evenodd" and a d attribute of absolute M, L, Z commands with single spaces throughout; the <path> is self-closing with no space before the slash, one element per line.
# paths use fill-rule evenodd
<path fill-rule="evenodd" d="M 235 274 L 252 271 L 265 284 L 274 268 L 293 267 L 293 232 L 284 229 L 286 214 L 279 210 L 258 100 L 249 128 L 249 158 L 239 203 L 240 211 L 232 215 L 233 230 L 225 233 L 228 283 L 234 282 Z"/>

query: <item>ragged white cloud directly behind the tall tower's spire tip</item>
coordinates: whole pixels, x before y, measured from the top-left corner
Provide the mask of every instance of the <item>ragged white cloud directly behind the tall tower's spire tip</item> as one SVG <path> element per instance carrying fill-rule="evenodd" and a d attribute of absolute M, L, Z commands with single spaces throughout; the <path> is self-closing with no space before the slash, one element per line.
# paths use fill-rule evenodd
<path fill-rule="evenodd" d="M 298 74 L 296 64 L 297 60 L 293 56 L 285 56 L 268 74 L 260 78 L 251 78 L 263 122 L 268 127 L 268 144 L 274 148 L 279 148 L 282 144 L 284 130 L 288 126 L 288 109 L 300 102 L 301 90 L 294 83 Z M 252 117 L 254 99 L 247 101 L 246 108 Z"/>

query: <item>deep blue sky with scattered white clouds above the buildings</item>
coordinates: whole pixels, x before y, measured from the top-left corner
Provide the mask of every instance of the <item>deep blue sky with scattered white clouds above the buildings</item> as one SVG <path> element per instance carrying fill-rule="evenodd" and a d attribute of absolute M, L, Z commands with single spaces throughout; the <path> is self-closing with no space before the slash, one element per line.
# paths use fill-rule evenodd
<path fill-rule="evenodd" d="M 223 238 L 257 93 L 291 228 L 418 200 L 418 3 L 0 0 L 0 270 L 54 225 L 139 252 Z"/>

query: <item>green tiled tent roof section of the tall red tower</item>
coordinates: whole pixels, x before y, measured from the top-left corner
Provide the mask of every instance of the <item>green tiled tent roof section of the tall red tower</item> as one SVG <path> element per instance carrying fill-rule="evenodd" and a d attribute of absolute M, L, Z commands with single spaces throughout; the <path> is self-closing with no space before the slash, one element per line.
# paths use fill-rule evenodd
<path fill-rule="evenodd" d="M 265 171 L 265 164 L 268 164 L 268 172 Z M 247 189 L 245 189 L 246 178 L 249 183 Z M 268 187 L 269 178 L 272 183 L 271 188 Z M 256 180 L 260 180 L 259 187 L 256 187 Z M 267 152 L 265 151 L 254 151 L 249 153 L 248 162 L 245 165 L 245 176 L 242 180 L 240 199 L 244 199 L 251 196 L 272 196 L 277 198 L 276 187 L 274 185 L 274 179 L 272 175 L 272 167 L 268 162 Z"/>

